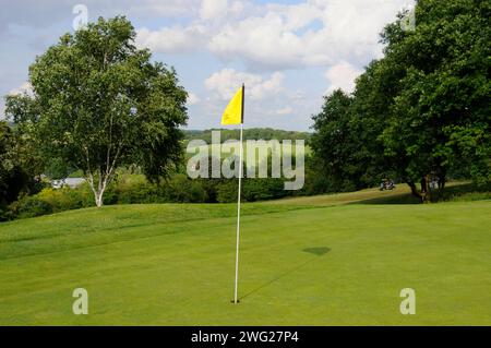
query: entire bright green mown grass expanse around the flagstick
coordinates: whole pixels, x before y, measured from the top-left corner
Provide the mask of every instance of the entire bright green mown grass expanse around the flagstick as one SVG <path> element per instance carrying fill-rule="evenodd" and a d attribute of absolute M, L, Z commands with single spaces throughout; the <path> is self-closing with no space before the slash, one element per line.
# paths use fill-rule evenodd
<path fill-rule="evenodd" d="M 491 325 L 490 201 L 299 200 L 244 204 L 238 305 L 233 204 L 1 224 L 0 324 Z M 88 315 L 72 313 L 79 287 Z M 416 315 L 399 312 L 403 288 Z"/>

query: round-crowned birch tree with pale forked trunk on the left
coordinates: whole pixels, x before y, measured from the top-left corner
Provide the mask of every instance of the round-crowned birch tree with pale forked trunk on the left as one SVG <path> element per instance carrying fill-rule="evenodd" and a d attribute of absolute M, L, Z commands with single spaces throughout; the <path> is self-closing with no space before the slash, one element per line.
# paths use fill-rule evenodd
<path fill-rule="evenodd" d="M 158 181 L 181 155 L 188 94 L 134 38 L 124 17 L 99 17 L 36 58 L 32 93 L 7 97 L 8 117 L 44 158 L 61 159 L 60 163 L 81 169 L 97 206 L 118 166 L 139 165 Z"/>

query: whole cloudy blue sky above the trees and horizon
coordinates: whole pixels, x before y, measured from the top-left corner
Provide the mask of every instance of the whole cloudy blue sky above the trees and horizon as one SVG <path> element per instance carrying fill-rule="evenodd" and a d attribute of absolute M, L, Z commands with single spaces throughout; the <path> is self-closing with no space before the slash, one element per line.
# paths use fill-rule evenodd
<path fill-rule="evenodd" d="M 352 92 L 382 57 L 379 34 L 411 0 L 0 0 L 3 96 L 28 89 L 36 56 L 89 22 L 125 15 L 136 46 L 173 67 L 188 91 L 188 129 L 219 128 L 246 84 L 244 127 L 308 131 L 323 96 Z"/>

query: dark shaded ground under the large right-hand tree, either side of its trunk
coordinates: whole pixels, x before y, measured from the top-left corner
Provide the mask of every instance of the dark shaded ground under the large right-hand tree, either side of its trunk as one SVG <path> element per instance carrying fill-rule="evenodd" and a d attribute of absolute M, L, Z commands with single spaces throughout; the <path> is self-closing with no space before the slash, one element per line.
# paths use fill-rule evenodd
<path fill-rule="evenodd" d="M 480 201 L 491 200 L 491 184 L 476 185 L 474 183 L 462 183 L 446 187 L 442 192 L 435 190 L 431 202 L 452 202 L 452 201 Z M 420 200 L 410 193 L 388 195 L 386 197 L 376 197 L 352 202 L 349 204 L 420 204 Z"/>

